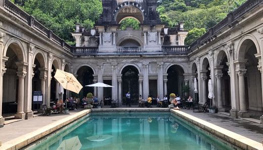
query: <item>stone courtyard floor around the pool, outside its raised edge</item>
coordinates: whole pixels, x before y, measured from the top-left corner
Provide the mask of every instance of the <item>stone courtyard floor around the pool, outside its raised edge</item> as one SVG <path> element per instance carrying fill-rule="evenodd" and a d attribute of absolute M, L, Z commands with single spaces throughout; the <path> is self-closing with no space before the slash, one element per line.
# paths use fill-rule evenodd
<path fill-rule="evenodd" d="M 110 109 L 108 106 L 104 107 Z M 118 109 L 135 109 L 137 107 L 120 107 Z M 153 107 L 156 108 L 156 107 Z M 148 109 L 148 108 L 146 108 Z M 151 108 L 149 108 L 151 109 Z M 158 108 L 161 109 L 161 108 Z M 21 120 L 0 128 L 0 141 L 2 144 L 26 133 L 33 132 L 43 126 L 49 125 L 53 122 L 61 120 L 67 116 L 76 114 L 83 109 L 76 111 L 69 111 L 69 114 L 52 114 L 51 116 L 37 116 L 29 120 Z M 204 121 L 210 122 L 237 134 L 243 135 L 247 138 L 262 143 L 263 140 L 263 124 L 253 123 L 242 119 L 233 119 L 227 115 L 216 113 L 193 113 L 192 110 L 182 109 L 181 111 L 192 116 L 200 118 Z M 0 147 L 1 149 L 1 147 Z"/>

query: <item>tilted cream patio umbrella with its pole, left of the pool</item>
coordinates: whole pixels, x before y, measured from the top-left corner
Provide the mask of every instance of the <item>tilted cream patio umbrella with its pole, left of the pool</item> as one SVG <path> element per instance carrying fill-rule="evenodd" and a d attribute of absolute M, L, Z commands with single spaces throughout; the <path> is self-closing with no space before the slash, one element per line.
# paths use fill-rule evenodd
<path fill-rule="evenodd" d="M 57 69 L 55 74 L 55 79 L 67 90 L 79 93 L 83 87 L 73 74 Z M 67 92 L 66 92 L 67 97 Z M 66 103 L 67 108 L 67 103 Z"/>

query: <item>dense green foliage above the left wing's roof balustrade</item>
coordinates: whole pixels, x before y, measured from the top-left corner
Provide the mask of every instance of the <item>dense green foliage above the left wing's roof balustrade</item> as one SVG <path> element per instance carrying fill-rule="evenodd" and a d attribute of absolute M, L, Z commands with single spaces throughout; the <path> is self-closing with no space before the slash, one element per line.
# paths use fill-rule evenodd
<path fill-rule="evenodd" d="M 72 44 L 75 24 L 92 28 L 102 13 L 100 0 L 13 0 L 28 14 Z M 71 42 L 70 42 L 71 41 Z"/>

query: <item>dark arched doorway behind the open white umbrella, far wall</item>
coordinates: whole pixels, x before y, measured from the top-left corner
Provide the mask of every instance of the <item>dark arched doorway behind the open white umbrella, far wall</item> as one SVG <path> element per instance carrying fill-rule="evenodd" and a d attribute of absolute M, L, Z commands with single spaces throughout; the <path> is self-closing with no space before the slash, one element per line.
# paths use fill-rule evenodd
<path fill-rule="evenodd" d="M 93 84 L 93 70 L 91 67 L 89 66 L 82 66 L 78 69 L 77 71 L 77 80 L 79 81 L 79 83 L 81 85 L 83 85 L 83 88 L 80 90 L 79 92 L 79 96 L 84 97 L 87 95 L 87 93 L 91 92 L 93 94 L 94 93 L 94 87 L 89 87 L 89 86 L 85 86 L 85 85 L 89 85 L 89 84 Z"/>

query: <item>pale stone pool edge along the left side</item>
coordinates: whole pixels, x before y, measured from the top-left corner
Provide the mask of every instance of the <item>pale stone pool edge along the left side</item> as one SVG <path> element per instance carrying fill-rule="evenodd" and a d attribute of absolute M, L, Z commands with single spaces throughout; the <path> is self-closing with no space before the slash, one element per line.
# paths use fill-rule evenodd
<path fill-rule="evenodd" d="M 19 149 L 22 148 L 38 139 L 40 139 L 41 137 L 44 137 L 68 124 L 70 124 L 71 122 L 87 115 L 91 113 L 91 110 L 83 110 L 81 112 L 78 112 L 76 114 L 70 115 L 66 118 L 63 118 L 61 120 L 58 120 L 54 123 L 51 123 L 49 125 L 43 126 L 40 129 L 37 129 L 35 131 L 32 131 L 30 133 L 27 133 L 25 135 L 22 135 L 20 137 L 17 137 L 15 139 L 9 140 L 7 142 L 2 143 L 2 146 L 0 147 L 0 149 Z"/>

